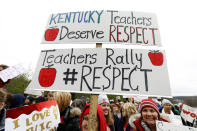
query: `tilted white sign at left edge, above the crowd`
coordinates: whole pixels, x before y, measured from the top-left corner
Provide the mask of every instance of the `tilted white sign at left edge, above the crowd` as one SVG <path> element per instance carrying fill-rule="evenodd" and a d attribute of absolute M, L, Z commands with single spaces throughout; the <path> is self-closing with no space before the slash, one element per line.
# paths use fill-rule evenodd
<path fill-rule="evenodd" d="M 18 64 L 0 71 L 0 78 L 2 79 L 3 82 L 6 82 L 9 79 L 12 79 L 24 73 L 25 71 L 26 71 L 25 68 L 21 64 Z"/>

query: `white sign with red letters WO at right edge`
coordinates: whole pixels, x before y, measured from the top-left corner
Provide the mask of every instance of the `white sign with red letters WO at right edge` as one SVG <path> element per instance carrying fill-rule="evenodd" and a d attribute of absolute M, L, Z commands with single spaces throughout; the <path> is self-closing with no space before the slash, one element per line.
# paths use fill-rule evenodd
<path fill-rule="evenodd" d="M 192 108 L 188 105 L 183 104 L 181 117 L 184 120 L 189 121 L 190 123 L 193 123 L 194 121 L 197 121 L 197 110 L 195 108 Z"/>

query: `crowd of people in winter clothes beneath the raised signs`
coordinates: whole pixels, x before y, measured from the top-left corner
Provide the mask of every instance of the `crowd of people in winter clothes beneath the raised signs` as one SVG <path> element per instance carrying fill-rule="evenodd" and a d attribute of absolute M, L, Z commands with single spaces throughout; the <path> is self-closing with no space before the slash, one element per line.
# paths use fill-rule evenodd
<path fill-rule="evenodd" d="M 88 131 L 90 101 L 86 97 L 72 100 L 68 92 L 48 92 L 39 97 L 23 94 L 9 94 L 0 89 L 0 131 L 4 130 L 6 110 L 29 104 L 56 100 L 61 122 L 58 131 Z M 156 120 L 176 125 L 193 126 L 184 119 L 177 121 L 175 115 L 181 113 L 181 104 L 172 104 L 168 99 L 108 99 L 98 96 L 97 131 L 156 131 Z M 181 117 L 180 117 L 181 118 Z"/>

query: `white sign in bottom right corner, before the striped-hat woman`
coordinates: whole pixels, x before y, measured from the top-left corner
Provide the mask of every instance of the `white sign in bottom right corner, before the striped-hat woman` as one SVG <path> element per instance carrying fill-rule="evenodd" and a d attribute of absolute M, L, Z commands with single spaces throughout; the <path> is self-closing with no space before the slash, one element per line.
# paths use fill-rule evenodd
<path fill-rule="evenodd" d="M 197 131 L 197 128 L 175 125 L 168 122 L 157 121 L 157 131 Z"/>

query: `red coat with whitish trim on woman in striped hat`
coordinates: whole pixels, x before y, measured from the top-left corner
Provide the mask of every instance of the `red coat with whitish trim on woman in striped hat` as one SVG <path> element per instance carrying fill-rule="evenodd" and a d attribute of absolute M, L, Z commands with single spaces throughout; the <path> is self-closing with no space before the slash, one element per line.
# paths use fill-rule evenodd
<path fill-rule="evenodd" d="M 169 122 L 168 116 L 160 115 L 160 121 Z M 129 118 L 129 125 L 137 131 L 151 131 L 145 122 L 142 122 L 141 115 L 135 114 Z"/>

